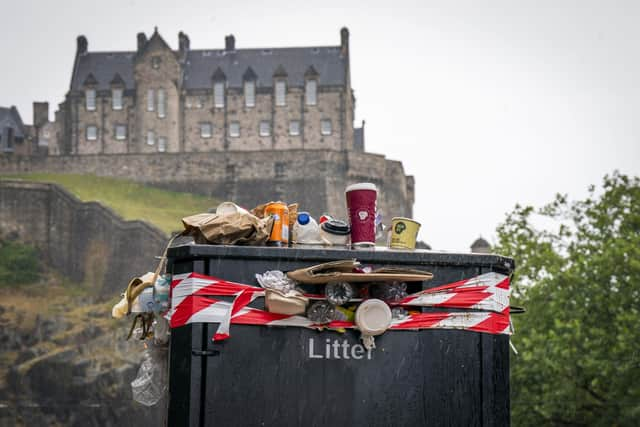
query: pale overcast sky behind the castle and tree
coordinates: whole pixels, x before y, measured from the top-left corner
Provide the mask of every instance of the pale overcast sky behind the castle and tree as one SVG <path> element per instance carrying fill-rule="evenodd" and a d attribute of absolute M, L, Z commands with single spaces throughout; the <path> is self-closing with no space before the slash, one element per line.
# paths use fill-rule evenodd
<path fill-rule="evenodd" d="M 416 178 L 434 249 L 468 250 L 516 203 L 640 175 L 638 1 L 32 1 L 3 5 L 0 105 L 64 99 L 75 38 L 134 50 L 154 26 L 174 48 L 338 45 L 351 32 L 366 148 Z M 53 110 L 53 108 L 52 108 Z M 53 112 L 53 111 L 52 111 Z"/>

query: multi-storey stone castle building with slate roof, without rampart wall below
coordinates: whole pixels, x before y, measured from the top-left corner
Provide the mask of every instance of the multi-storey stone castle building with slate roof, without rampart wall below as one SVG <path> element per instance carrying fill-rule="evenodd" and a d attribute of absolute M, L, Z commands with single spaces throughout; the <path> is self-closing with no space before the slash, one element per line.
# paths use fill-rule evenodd
<path fill-rule="evenodd" d="M 130 52 L 77 39 L 71 86 L 51 154 L 364 150 L 354 130 L 349 32 L 339 46 L 178 50 L 157 29 Z M 357 141 L 356 141 L 357 140 Z"/>

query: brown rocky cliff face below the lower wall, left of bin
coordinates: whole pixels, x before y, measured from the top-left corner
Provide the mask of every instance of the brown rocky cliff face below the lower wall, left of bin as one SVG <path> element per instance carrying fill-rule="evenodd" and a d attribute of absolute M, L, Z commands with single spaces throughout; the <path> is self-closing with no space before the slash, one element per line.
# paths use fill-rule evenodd
<path fill-rule="evenodd" d="M 0 426 L 164 425 L 165 402 L 132 400 L 143 344 L 110 318 L 115 298 L 45 276 L 0 284 Z"/>

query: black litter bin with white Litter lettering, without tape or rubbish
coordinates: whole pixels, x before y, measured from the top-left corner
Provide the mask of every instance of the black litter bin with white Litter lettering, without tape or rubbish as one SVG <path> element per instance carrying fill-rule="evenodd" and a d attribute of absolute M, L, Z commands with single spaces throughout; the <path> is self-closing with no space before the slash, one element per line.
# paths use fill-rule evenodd
<path fill-rule="evenodd" d="M 184 245 L 168 257 L 172 274 L 248 285 L 267 270 L 352 258 L 430 271 L 425 288 L 514 268 L 496 255 L 419 250 Z M 357 347 L 355 330 L 231 325 L 229 339 L 213 342 L 217 327 L 196 323 L 171 332 L 169 426 L 509 425 L 506 335 L 387 331 L 369 353 Z"/>

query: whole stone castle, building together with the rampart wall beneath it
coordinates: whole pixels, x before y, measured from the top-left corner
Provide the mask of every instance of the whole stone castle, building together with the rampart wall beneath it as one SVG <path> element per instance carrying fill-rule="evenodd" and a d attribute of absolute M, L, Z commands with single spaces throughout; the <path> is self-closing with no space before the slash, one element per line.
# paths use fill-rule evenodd
<path fill-rule="evenodd" d="M 156 29 L 135 51 L 94 52 L 79 36 L 55 121 L 34 103 L 32 148 L 0 155 L 0 172 L 120 176 L 316 215 L 344 215 L 344 188 L 370 181 L 387 218 L 411 216 L 413 177 L 354 128 L 349 56 L 346 28 L 340 45 L 299 48 L 238 49 L 230 35 L 192 49 L 181 32 L 173 50 Z"/>

